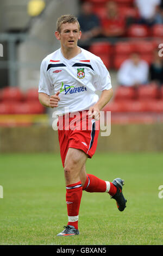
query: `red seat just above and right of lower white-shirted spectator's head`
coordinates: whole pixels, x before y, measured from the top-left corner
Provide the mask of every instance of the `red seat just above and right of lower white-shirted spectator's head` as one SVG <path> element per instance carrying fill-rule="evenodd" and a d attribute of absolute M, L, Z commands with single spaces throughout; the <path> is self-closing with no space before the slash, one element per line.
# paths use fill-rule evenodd
<path fill-rule="evenodd" d="M 134 51 L 136 52 L 148 54 L 153 52 L 154 43 L 153 41 L 146 41 L 146 40 L 136 41 L 134 43 L 133 48 L 134 48 Z"/>

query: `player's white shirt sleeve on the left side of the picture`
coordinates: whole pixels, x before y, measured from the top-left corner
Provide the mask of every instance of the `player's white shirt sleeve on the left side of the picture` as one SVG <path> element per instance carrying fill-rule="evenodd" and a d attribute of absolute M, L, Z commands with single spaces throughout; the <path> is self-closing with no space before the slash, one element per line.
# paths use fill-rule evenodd
<path fill-rule="evenodd" d="M 49 80 L 46 60 L 43 59 L 40 66 L 40 81 L 39 81 L 39 93 L 46 93 L 48 95 L 52 95 L 52 84 Z"/>

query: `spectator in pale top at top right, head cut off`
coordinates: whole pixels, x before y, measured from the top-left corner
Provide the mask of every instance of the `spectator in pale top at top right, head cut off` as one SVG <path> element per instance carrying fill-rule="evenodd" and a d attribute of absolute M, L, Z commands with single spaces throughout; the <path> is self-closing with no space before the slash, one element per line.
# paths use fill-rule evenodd
<path fill-rule="evenodd" d="M 161 0 L 135 0 L 135 5 L 139 10 L 140 19 L 138 23 L 152 26 L 154 25 L 155 15 L 158 12 Z"/>

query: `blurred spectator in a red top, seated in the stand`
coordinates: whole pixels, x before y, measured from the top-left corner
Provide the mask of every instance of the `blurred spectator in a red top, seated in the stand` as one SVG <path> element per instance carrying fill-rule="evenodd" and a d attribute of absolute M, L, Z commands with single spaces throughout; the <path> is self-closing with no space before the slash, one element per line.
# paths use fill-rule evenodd
<path fill-rule="evenodd" d="M 118 11 L 116 2 L 106 3 L 106 17 L 101 20 L 104 36 L 123 36 L 126 32 L 126 20 Z"/>

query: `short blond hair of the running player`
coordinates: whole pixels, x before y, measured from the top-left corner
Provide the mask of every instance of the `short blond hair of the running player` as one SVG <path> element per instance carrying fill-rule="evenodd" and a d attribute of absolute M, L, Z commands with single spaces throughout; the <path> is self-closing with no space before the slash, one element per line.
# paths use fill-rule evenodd
<path fill-rule="evenodd" d="M 61 17 L 59 17 L 57 19 L 57 31 L 60 33 L 61 32 L 61 25 L 64 24 L 64 23 L 78 23 L 78 28 L 79 28 L 79 31 L 80 31 L 80 25 L 79 25 L 79 22 L 78 22 L 78 19 L 76 16 L 72 15 L 72 14 L 65 14 L 65 15 L 62 15 Z"/>

